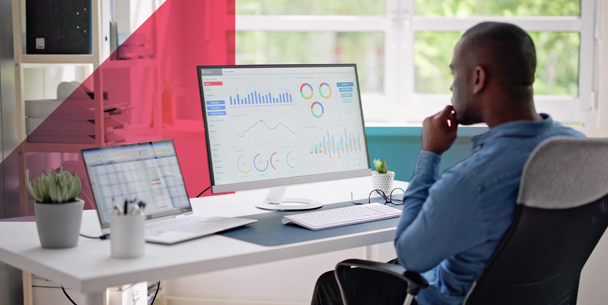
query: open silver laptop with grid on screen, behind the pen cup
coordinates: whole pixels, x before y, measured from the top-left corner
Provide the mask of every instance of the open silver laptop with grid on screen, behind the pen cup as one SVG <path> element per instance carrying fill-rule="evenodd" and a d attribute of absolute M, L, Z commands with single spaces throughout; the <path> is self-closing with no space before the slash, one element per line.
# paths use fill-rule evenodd
<path fill-rule="evenodd" d="M 145 239 L 174 244 L 256 222 L 192 213 L 173 140 L 81 149 L 103 233 L 114 204 L 143 201 Z M 116 200 L 116 201 L 114 201 Z"/>

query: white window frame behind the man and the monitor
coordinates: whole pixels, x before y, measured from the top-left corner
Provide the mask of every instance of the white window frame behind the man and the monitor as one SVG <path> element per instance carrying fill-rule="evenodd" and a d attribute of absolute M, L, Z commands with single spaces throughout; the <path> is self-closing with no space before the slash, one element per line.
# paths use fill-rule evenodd
<path fill-rule="evenodd" d="M 269 32 L 381 32 L 384 33 L 384 92 L 362 92 L 366 125 L 420 123 L 442 105 L 449 94 L 414 92 L 414 52 L 416 32 L 460 32 L 478 22 L 499 21 L 516 24 L 528 32 L 579 33 L 578 96 L 534 95 L 539 111 L 567 123 L 596 126 L 597 89 L 596 40 L 598 1 L 581 0 L 580 16 L 469 16 L 466 18 L 415 15 L 415 0 L 385 0 L 384 15 L 236 15 L 236 31 Z M 390 63 L 390 64 L 387 64 Z M 404 98 L 405 97 L 405 98 Z M 390 112 L 404 114 L 388 117 Z M 367 124 L 370 123 L 370 124 Z"/>

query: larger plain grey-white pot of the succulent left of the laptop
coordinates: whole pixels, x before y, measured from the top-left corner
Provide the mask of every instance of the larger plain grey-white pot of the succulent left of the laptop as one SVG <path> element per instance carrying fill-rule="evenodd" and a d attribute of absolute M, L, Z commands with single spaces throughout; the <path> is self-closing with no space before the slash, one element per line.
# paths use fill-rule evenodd
<path fill-rule="evenodd" d="M 36 228 L 43 248 L 71 248 L 78 244 L 80 221 L 85 201 L 76 199 L 63 204 L 34 202 Z"/>

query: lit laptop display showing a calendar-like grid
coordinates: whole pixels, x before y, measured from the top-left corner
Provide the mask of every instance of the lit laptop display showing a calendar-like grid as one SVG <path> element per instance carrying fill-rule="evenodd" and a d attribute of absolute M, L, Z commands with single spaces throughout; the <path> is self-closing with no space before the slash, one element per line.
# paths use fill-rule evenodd
<path fill-rule="evenodd" d="M 192 211 L 173 140 L 85 148 L 82 154 L 102 228 L 109 227 L 112 199 L 142 200 L 147 219 Z"/>

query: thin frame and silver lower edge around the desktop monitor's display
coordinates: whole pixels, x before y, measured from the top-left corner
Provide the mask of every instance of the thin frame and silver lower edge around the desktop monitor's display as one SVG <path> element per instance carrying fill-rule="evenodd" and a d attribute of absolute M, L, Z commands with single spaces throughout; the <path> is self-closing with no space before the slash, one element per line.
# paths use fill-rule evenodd
<path fill-rule="evenodd" d="M 249 182 L 228 183 L 223 185 L 215 185 L 213 179 L 213 162 L 211 159 L 211 150 L 209 142 L 209 132 L 207 128 L 207 108 L 205 107 L 205 95 L 203 92 L 201 70 L 204 69 L 251 69 L 251 68 L 297 68 L 297 67 L 353 67 L 354 76 L 357 83 L 357 94 L 359 97 L 359 113 L 361 114 L 361 124 L 363 126 L 363 140 L 365 145 L 365 154 L 367 155 L 367 168 L 362 170 L 338 171 L 333 173 L 312 174 L 295 177 L 285 177 L 277 179 L 266 179 Z M 363 108 L 361 103 L 361 87 L 359 86 L 359 75 L 357 72 L 357 64 L 243 64 L 243 65 L 221 65 L 221 66 L 196 66 L 196 74 L 198 75 L 198 86 L 201 95 L 202 120 L 205 129 L 205 141 L 207 146 L 207 165 L 209 166 L 209 182 L 212 193 L 226 193 L 232 191 L 255 190 L 260 188 L 283 187 L 286 185 L 321 182 L 325 180 L 346 179 L 362 176 L 371 176 L 370 152 L 367 146 L 367 134 L 365 133 L 365 120 L 363 117 Z"/>

